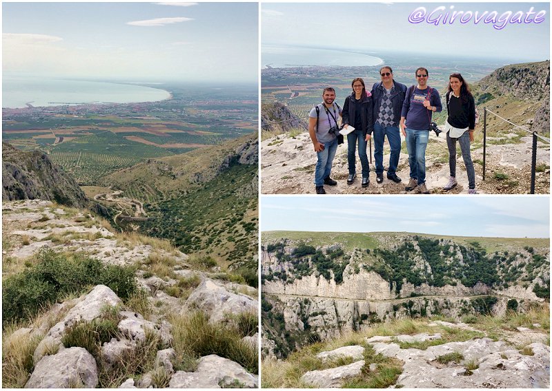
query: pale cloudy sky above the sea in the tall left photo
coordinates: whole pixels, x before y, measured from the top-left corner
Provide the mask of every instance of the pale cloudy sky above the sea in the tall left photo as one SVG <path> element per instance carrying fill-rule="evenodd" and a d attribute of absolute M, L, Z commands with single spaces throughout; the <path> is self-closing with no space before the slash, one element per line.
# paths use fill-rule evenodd
<path fill-rule="evenodd" d="M 3 72 L 257 83 L 257 3 L 175 4 L 2 3 Z"/>

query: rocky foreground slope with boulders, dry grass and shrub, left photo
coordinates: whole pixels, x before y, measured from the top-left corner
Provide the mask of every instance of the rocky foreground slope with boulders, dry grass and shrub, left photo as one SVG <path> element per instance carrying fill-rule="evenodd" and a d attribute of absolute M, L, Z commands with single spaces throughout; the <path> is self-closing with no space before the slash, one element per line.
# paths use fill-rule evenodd
<path fill-rule="evenodd" d="M 257 290 L 242 276 L 86 210 L 2 207 L 5 387 L 257 386 Z"/>

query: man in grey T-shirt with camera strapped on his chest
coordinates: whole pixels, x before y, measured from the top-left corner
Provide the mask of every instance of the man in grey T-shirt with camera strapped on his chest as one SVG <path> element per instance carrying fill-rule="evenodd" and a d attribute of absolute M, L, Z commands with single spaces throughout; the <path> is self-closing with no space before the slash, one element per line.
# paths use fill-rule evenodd
<path fill-rule="evenodd" d="M 326 194 L 324 184 L 335 186 L 337 182 L 330 178 L 333 158 L 337 151 L 337 136 L 339 125 L 337 119 L 342 115 L 342 109 L 334 103 L 335 89 L 324 88 L 323 102 L 319 103 L 308 114 L 308 134 L 311 136 L 317 162 L 315 169 L 315 186 L 317 194 Z"/>

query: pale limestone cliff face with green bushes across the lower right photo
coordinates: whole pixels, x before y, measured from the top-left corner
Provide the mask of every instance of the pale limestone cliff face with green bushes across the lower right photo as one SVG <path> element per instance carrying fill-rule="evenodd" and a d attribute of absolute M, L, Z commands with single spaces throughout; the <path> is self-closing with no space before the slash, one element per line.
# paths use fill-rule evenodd
<path fill-rule="evenodd" d="M 446 237 L 373 239 L 375 249 L 286 239 L 264 245 L 265 337 L 279 355 L 391 319 L 503 315 L 509 305 L 544 302 L 536 287 L 549 286 L 546 247 L 504 240 L 501 251 L 487 253 L 479 242 Z"/>

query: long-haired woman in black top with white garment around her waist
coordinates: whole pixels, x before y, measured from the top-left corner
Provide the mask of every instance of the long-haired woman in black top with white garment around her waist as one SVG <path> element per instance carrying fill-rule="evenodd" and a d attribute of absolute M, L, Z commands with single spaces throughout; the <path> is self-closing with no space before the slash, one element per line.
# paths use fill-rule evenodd
<path fill-rule="evenodd" d="M 469 194 L 475 194 L 475 170 L 471 161 L 470 142 L 473 141 L 475 129 L 475 102 L 468 83 L 461 74 L 449 76 L 449 91 L 446 92 L 446 109 L 449 117 L 446 118 L 446 144 L 449 147 L 449 167 L 451 178 L 444 190 L 450 190 L 456 182 L 456 141 L 460 143 L 462 158 L 468 174 Z"/>

